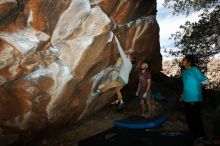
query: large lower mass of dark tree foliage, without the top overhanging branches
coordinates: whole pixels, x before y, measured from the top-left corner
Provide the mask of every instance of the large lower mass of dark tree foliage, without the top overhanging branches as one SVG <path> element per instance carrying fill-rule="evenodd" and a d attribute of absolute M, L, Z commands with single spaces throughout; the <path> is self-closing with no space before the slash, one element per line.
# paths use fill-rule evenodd
<path fill-rule="evenodd" d="M 173 56 L 195 55 L 198 66 L 206 71 L 210 57 L 220 53 L 220 6 L 212 12 L 205 11 L 198 22 L 187 21 L 180 31 L 172 34 L 178 50 L 171 50 Z"/>

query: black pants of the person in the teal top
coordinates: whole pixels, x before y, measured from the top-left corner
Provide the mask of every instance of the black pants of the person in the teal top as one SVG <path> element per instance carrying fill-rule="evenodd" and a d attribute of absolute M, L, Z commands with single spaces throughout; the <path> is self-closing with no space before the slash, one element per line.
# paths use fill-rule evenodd
<path fill-rule="evenodd" d="M 201 117 L 201 102 L 185 102 L 184 103 L 184 113 L 186 116 L 186 121 L 189 130 L 195 134 L 196 137 L 204 137 L 205 130 Z"/>

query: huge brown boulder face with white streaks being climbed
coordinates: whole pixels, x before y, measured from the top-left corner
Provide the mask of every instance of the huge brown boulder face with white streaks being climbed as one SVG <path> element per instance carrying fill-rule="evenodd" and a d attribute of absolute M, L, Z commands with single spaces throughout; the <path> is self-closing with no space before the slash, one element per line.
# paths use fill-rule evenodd
<path fill-rule="evenodd" d="M 113 41 L 161 70 L 154 0 L 0 0 L 0 125 L 20 130 L 78 121 L 112 100 Z M 132 78 L 132 77 L 131 77 Z"/>

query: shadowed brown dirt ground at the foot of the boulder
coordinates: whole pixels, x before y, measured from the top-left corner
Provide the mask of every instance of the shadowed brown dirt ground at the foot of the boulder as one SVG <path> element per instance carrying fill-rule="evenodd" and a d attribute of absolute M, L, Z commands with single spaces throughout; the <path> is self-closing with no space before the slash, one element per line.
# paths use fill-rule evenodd
<path fill-rule="evenodd" d="M 161 111 L 161 108 L 163 107 L 160 104 L 155 105 L 155 115 Z M 118 120 L 129 115 L 137 115 L 139 113 L 137 101 L 135 101 L 135 103 L 128 103 L 126 109 L 122 112 L 116 112 L 115 105 L 110 105 L 100 112 L 82 120 L 78 124 L 65 127 L 50 135 L 48 138 L 45 137 L 42 139 L 39 146 L 77 146 L 77 143 L 80 140 L 111 128 L 114 120 Z M 187 130 L 184 117 L 181 114 L 173 113 L 169 120 L 163 124 L 161 130 Z"/>

